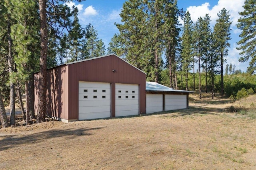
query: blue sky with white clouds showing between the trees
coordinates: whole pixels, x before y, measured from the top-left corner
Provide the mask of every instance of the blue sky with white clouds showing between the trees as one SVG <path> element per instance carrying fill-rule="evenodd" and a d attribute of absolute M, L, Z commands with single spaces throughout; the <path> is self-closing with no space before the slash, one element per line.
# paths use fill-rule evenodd
<path fill-rule="evenodd" d="M 98 37 L 102 39 L 106 47 L 111 41 L 114 33 L 118 33 L 118 29 L 114 23 L 120 23 L 120 11 L 125 0 L 86 0 L 81 3 L 76 1 L 67 3 L 69 6 L 76 6 L 79 10 L 78 18 L 82 27 L 86 27 L 91 23 L 98 31 Z M 191 19 L 195 23 L 198 17 L 204 17 L 209 14 L 211 17 L 211 27 L 216 23 L 217 14 L 222 8 L 230 11 L 230 19 L 232 21 L 232 31 L 230 49 L 226 64 L 235 64 L 236 69 L 246 71 L 248 63 L 240 63 L 238 61 L 239 51 L 236 50 L 236 42 L 239 41 L 241 31 L 236 28 L 236 23 L 240 17 L 238 12 L 243 11 L 244 0 L 178 0 L 178 8 L 189 11 Z M 183 24 L 183 21 L 181 21 Z"/>

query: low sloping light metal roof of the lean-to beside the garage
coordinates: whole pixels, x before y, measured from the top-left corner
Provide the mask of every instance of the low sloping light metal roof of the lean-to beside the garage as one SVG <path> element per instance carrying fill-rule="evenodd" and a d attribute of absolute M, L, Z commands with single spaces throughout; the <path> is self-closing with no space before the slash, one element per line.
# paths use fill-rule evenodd
<path fill-rule="evenodd" d="M 175 90 L 173 88 L 164 86 L 162 84 L 156 82 L 146 82 L 146 91 L 148 92 L 185 92 L 185 93 L 192 93 L 193 91 L 186 91 L 186 90 Z"/>

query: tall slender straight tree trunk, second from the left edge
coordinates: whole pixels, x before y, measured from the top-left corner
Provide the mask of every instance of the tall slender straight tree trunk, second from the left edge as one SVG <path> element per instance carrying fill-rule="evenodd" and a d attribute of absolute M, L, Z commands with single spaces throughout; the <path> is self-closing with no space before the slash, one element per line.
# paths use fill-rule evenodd
<path fill-rule="evenodd" d="M 10 125 L 15 125 L 15 86 L 11 78 L 13 74 L 11 24 L 8 23 L 8 66 L 10 74 Z"/>

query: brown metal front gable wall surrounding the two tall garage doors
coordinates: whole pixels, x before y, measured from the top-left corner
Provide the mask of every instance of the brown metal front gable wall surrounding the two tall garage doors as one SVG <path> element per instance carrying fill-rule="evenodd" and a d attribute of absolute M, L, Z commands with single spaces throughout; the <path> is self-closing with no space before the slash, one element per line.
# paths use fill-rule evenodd
<path fill-rule="evenodd" d="M 140 112 L 146 113 L 146 74 L 115 55 L 68 64 L 68 119 L 78 119 L 78 82 L 140 85 Z M 112 70 L 116 70 L 113 72 Z"/>

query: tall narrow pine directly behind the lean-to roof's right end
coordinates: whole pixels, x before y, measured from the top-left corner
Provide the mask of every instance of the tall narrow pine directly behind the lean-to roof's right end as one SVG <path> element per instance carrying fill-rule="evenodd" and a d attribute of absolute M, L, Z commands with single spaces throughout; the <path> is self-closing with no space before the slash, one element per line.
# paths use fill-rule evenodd
<path fill-rule="evenodd" d="M 188 90 L 188 72 L 191 69 L 192 63 L 192 21 L 190 13 L 186 12 L 184 17 L 184 28 L 182 33 L 181 57 L 182 57 L 182 72 L 186 76 L 186 90 Z"/>

